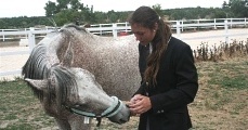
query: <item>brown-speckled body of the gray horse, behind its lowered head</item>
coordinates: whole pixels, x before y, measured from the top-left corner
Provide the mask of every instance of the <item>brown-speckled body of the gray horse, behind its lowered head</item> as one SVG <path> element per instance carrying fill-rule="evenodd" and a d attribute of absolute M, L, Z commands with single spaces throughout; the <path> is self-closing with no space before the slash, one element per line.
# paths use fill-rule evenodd
<path fill-rule="evenodd" d="M 74 66 L 91 72 L 108 94 L 126 100 L 130 98 L 130 93 L 140 83 L 135 38 L 97 37 L 83 41 L 86 42 L 81 42 L 81 47 L 77 47 L 74 52 Z M 117 88 L 125 91 L 116 91 Z"/>

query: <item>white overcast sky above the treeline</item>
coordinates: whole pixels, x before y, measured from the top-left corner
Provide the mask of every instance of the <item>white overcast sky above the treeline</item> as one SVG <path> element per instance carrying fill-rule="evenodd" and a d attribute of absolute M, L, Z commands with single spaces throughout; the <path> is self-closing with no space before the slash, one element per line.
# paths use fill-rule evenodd
<path fill-rule="evenodd" d="M 0 17 L 44 16 L 49 0 L 0 0 Z M 55 2 L 56 0 L 50 0 Z M 175 8 L 221 8 L 229 0 L 80 0 L 84 5 L 93 5 L 94 11 L 134 11 L 141 5 L 160 4 L 161 9 Z"/>

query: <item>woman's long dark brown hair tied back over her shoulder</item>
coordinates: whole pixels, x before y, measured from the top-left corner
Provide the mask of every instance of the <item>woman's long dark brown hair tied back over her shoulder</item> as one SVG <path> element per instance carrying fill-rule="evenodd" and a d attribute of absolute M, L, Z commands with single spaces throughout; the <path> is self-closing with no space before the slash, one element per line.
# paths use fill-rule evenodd
<path fill-rule="evenodd" d="M 157 32 L 152 41 L 153 52 L 147 58 L 147 67 L 143 77 L 144 81 L 155 86 L 157 83 L 156 77 L 160 67 L 160 61 L 171 37 L 169 24 L 164 22 L 158 13 L 149 6 L 136 9 L 129 17 L 129 23 L 131 25 L 140 24 L 151 30 L 155 28 L 156 23 L 158 24 Z"/>

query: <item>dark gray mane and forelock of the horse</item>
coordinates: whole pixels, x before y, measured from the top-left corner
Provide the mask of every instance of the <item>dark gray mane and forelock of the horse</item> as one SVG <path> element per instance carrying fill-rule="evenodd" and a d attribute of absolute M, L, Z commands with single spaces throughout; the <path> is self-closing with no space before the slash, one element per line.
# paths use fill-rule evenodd
<path fill-rule="evenodd" d="M 58 65 L 58 63 L 51 66 L 47 57 L 47 51 L 48 49 L 43 43 L 37 44 L 37 47 L 35 47 L 31 51 L 26 64 L 23 66 L 22 75 L 24 78 L 29 79 L 48 79 L 51 76 L 51 73 L 53 73 L 55 75 L 56 82 L 58 83 L 55 90 L 56 93 L 54 94 L 56 95 L 57 103 L 61 104 L 62 102 L 65 102 L 65 99 L 70 93 L 70 90 L 77 91 L 77 84 L 69 68 L 63 67 Z M 44 93 L 30 84 L 29 87 L 34 91 L 34 94 L 37 95 L 40 101 L 43 101 Z M 70 88 L 68 89 L 68 87 Z M 51 82 L 49 82 L 48 91 L 52 92 L 51 89 Z M 54 100 L 52 96 L 53 93 L 49 93 L 49 103 Z"/>

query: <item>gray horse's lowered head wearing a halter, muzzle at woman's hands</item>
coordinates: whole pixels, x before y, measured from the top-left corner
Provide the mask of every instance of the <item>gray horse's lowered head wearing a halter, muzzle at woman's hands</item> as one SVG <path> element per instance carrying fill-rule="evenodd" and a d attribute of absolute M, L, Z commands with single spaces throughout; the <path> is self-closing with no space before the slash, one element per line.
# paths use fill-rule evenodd
<path fill-rule="evenodd" d="M 47 77 L 25 80 L 44 93 L 48 100 L 44 106 L 51 108 L 56 104 L 53 106 L 55 115 L 71 112 L 96 119 L 107 117 L 117 123 L 129 120 L 129 108 L 116 96 L 108 96 L 90 72 L 56 65 L 49 70 Z"/>

